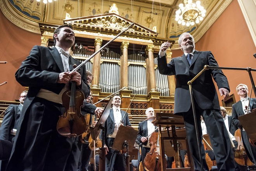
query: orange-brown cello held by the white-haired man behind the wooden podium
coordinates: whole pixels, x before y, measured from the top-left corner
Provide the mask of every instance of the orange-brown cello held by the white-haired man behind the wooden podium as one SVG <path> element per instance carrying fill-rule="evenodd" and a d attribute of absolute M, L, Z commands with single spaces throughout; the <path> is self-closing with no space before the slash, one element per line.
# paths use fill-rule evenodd
<path fill-rule="evenodd" d="M 161 171 L 159 132 L 153 132 L 149 138 L 150 151 L 144 159 L 144 168 L 150 171 Z M 167 167 L 167 164 L 166 164 Z"/>

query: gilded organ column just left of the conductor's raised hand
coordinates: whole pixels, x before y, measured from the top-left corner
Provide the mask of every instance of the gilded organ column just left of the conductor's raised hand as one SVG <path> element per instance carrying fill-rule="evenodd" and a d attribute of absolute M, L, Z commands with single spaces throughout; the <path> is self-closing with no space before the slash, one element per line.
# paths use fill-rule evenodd
<path fill-rule="evenodd" d="M 146 58 L 147 63 L 147 83 L 148 83 L 148 90 L 149 91 L 156 91 L 156 74 L 155 74 L 155 64 L 154 64 L 154 45 L 150 44 L 146 47 L 146 52 L 148 58 Z"/>

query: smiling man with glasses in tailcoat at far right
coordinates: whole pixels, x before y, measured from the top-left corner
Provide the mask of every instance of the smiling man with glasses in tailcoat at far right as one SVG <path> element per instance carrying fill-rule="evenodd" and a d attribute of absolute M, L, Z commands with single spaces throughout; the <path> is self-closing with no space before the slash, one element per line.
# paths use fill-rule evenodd
<path fill-rule="evenodd" d="M 237 94 L 240 96 L 240 101 L 232 105 L 232 124 L 242 129 L 242 124 L 238 120 L 238 117 L 250 113 L 251 110 L 256 108 L 256 98 L 251 98 L 249 102 L 248 97 L 248 87 L 244 84 L 239 84 L 236 88 Z M 256 162 L 256 147 L 253 147 L 249 143 L 249 137 L 244 129 L 242 129 L 242 141 L 244 143 L 244 148 L 249 159 L 255 164 Z"/>

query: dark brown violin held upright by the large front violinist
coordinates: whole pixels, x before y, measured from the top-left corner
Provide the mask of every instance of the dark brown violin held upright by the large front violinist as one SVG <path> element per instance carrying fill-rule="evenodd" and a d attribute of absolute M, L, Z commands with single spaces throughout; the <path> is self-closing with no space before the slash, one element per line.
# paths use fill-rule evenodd
<path fill-rule="evenodd" d="M 76 68 L 76 64 L 73 65 Z M 62 95 L 62 104 L 65 107 L 63 115 L 59 116 L 57 131 L 65 137 L 74 137 L 83 134 L 86 130 L 85 117 L 81 114 L 81 106 L 85 95 L 83 91 L 76 90 L 76 82 L 72 81 L 71 90 Z"/>

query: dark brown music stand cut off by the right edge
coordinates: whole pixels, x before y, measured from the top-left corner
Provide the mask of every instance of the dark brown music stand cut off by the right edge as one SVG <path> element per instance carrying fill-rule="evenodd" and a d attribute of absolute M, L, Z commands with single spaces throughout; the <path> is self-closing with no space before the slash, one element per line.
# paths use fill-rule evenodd
<path fill-rule="evenodd" d="M 256 120 L 256 110 L 247 113 L 246 115 L 239 116 L 238 120 L 241 122 L 247 136 L 251 140 L 256 140 L 256 126 L 254 125 Z"/>

